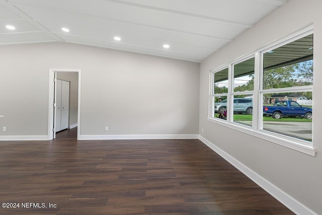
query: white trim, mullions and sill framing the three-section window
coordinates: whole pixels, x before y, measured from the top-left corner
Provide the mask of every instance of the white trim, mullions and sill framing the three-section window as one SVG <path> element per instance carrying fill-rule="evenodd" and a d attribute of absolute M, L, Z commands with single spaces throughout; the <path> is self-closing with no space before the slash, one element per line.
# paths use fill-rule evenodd
<path fill-rule="evenodd" d="M 252 136 L 259 137 L 264 140 L 268 140 L 273 142 L 274 144 L 278 144 L 280 146 L 284 146 L 289 149 L 296 150 L 298 152 L 310 155 L 315 157 L 316 154 L 316 149 L 313 148 L 313 141 L 310 143 L 305 140 L 301 140 L 299 138 L 267 131 L 262 129 L 262 117 L 261 114 L 263 115 L 263 108 L 259 104 L 263 104 L 262 100 L 262 95 L 266 92 L 299 92 L 299 91 L 313 91 L 313 86 L 300 86 L 300 87 L 292 87 L 292 88 L 282 88 L 282 89 L 268 89 L 268 90 L 261 90 L 262 89 L 262 66 L 263 65 L 263 53 L 272 50 L 276 47 L 285 45 L 291 41 L 297 40 L 303 36 L 306 36 L 308 34 L 313 33 L 313 26 L 308 26 L 305 29 L 302 29 L 299 32 L 296 32 L 294 34 L 291 34 L 287 37 L 284 37 L 283 39 L 280 39 L 278 41 L 275 41 L 271 43 L 270 45 L 267 45 L 253 53 L 244 55 L 243 57 L 239 57 L 230 63 L 221 65 L 217 67 L 216 69 L 212 69 L 210 71 L 210 85 L 209 85 L 209 115 L 208 115 L 208 121 L 214 122 L 216 124 L 220 124 L 223 126 L 226 126 L 228 128 L 238 130 L 247 134 L 250 134 Z M 255 56 L 255 77 L 254 77 L 254 91 L 245 91 L 245 92 L 232 92 L 232 83 L 233 83 L 233 73 L 232 73 L 232 65 L 236 64 L 238 62 L 247 60 L 251 57 Z M 228 67 L 228 77 L 230 80 L 228 80 L 228 83 L 230 84 L 228 86 L 228 93 L 227 94 L 214 94 L 214 74 L 224 68 Z M 227 119 L 222 120 L 213 117 L 213 110 L 214 110 L 214 102 L 212 102 L 213 98 L 215 96 L 227 96 L 227 106 L 230 107 L 229 101 L 231 100 L 231 97 L 233 95 L 241 95 L 241 94 L 253 94 L 253 126 L 247 126 L 243 124 L 239 124 L 236 122 L 232 121 L 232 118 L 230 117 L 230 111 L 227 112 Z M 256 107 L 256 109 L 254 108 Z M 232 107 L 230 107 L 231 109 Z M 313 133 L 312 133 L 313 135 Z"/>

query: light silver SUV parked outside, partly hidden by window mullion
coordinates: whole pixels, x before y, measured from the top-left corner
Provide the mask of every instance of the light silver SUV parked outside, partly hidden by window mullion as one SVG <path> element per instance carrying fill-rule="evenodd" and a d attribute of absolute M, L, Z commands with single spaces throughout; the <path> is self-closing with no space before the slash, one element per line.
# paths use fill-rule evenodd
<path fill-rule="evenodd" d="M 215 113 L 220 113 L 227 108 L 227 99 L 215 103 Z M 234 98 L 233 99 L 234 113 L 253 114 L 253 99 Z"/>

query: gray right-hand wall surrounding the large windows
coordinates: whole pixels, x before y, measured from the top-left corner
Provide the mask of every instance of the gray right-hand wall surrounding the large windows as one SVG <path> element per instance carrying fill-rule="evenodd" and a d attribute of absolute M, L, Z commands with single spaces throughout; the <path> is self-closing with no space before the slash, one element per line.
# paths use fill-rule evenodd
<path fill-rule="evenodd" d="M 318 214 L 322 213 L 322 1 L 290 0 L 201 63 L 200 135 Z M 313 146 L 316 157 L 210 122 L 209 71 L 314 25 Z M 204 133 L 202 133 L 204 129 Z"/>

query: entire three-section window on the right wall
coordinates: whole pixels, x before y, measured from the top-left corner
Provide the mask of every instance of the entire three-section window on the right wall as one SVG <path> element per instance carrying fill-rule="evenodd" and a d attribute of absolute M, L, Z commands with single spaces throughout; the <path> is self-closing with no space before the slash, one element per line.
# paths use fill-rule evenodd
<path fill-rule="evenodd" d="M 313 50 L 313 31 L 302 31 L 213 70 L 210 119 L 311 147 Z"/>

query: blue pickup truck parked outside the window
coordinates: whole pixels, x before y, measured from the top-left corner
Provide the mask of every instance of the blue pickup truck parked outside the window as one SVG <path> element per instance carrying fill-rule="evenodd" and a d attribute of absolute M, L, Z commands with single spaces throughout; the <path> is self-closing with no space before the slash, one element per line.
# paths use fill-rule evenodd
<path fill-rule="evenodd" d="M 273 106 L 264 106 L 263 114 L 280 119 L 282 116 L 299 116 L 312 119 L 312 108 L 302 107 L 295 101 L 275 101 Z"/>

